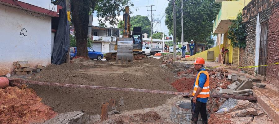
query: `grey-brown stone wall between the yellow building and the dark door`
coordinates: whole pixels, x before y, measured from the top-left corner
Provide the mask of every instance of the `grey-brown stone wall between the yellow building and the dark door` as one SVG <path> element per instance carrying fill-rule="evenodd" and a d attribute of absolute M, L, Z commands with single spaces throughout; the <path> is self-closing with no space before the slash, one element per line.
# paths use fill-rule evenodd
<path fill-rule="evenodd" d="M 274 1 L 274 0 L 273 0 Z M 254 66 L 256 44 L 256 25 L 257 15 L 259 14 L 259 23 L 269 20 L 271 13 L 272 0 L 252 0 L 246 7 L 243 8 L 243 20 L 246 26 L 246 48 L 240 49 L 239 66 Z M 254 68 L 245 68 L 244 71 L 249 74 L 254 74 Z"/>

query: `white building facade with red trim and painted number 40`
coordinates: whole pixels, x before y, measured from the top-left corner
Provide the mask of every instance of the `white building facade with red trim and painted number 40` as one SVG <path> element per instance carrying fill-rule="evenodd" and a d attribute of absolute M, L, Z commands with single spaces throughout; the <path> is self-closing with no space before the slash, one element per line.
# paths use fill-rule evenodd
<path fill-rule="evenodd" d="M 14 61 L 51 64 L 51 17 L 59 17 L 59 9 L 51 0 L 0 0 L 0 75 L 10 73 Z"/>

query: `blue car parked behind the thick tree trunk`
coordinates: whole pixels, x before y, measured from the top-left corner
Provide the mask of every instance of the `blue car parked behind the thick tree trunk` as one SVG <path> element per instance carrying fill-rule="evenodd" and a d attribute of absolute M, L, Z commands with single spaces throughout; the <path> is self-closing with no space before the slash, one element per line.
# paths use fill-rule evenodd
<path fill-rule="evenodd" d="M 87 49 L 88 49 L 88 57 L 91 60 L 93 59 L 101 60 L 104 58 L 104 55 L 101 52 L 94 51 L 90 47 L 88 47 Z M 75 57 L 76 55 L 77 55 L 77 47 L 70 47 L 70 59 L 73 59 L 73 57 Z"/>

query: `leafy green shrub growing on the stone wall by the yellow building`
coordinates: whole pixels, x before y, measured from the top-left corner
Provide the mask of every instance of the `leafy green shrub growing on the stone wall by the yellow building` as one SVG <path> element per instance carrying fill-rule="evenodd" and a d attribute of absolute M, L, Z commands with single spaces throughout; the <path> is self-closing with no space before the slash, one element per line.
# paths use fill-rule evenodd
<path fill-rule="evenodd" d="M 229 26 L 228 38 L 232 41 L 233 47 L 245 48 L 247 33 L 245 25 L 242 22 L 242 13 L 237 14 L 236 20 L 230 20 L 232 25 Z"/>

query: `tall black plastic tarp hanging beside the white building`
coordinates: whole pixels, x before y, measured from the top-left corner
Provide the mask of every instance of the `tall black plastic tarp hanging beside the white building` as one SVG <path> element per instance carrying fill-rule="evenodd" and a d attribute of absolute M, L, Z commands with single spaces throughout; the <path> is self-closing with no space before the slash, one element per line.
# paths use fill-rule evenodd
<path fill-rule="evenodd" d="M 63 64 L 70 47 L 70 25 L 67 20 L 66 0 L 60 0 L 57 5 L 62 6 L 59 11 L 59 22 L 52 52 L 52 64 Z"/>

